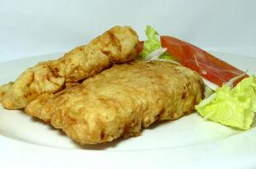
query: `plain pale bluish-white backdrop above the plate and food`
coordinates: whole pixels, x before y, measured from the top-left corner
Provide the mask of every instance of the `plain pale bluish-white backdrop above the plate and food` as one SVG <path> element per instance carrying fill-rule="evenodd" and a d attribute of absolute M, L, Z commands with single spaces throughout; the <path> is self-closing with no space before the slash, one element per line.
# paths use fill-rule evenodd
<path fill-rule="evenodd" d="M 256 57 L 253 0 L 0 0 L 0 62 L 68 51 L 113 25 L 145 25 L 207 50 Z"/>

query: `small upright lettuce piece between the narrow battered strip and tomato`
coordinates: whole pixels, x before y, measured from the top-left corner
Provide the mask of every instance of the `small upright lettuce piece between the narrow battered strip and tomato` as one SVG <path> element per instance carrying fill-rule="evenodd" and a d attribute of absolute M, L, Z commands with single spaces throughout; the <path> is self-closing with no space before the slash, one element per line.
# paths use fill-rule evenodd
<path fill-rule="evenodd" d="M 146 40 L 143 44 L 143 52 L 142 57 L 145 59 L 148 54 L 151 54 L 154 52 L 154 50 L 161 48 L 161 43 L 158 38 L 157 31 L 154 30 L 154 28 L 147 25 L 146 27 L 146 36 L 148 37 L 148 40 Z"/>

